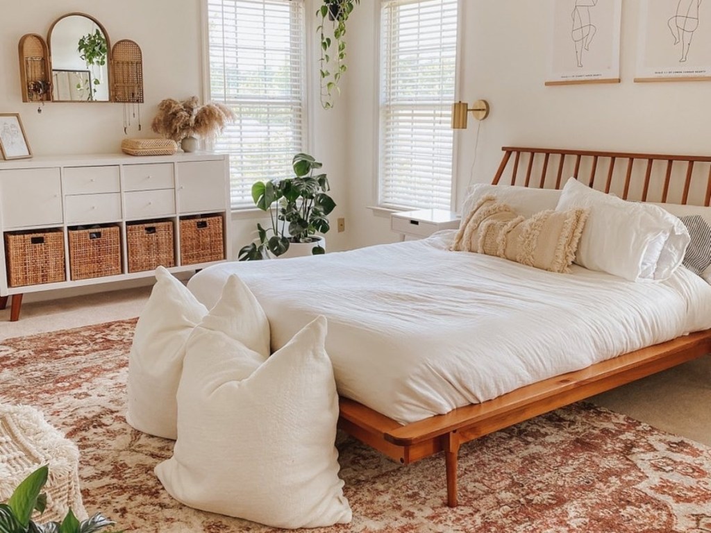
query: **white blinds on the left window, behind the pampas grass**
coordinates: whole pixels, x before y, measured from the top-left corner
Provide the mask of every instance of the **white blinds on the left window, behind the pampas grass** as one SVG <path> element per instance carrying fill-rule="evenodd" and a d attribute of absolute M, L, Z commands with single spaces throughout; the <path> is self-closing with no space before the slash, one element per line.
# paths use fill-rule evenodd
<path fill-rule="evenodd" d="M 215 141 L 230 154 L 232 208 L 252 183 L 291 177 L 304 150 L 304 1 L 207 0 L 210 99 L 237 115 Z"/>

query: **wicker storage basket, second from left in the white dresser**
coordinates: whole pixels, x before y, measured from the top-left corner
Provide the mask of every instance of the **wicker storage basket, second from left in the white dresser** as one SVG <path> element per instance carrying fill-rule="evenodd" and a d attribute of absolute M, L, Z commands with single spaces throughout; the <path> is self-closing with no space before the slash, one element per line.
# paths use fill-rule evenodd
<path fill-rule="evenodd" d="M 118 226 L 69 230 L 72 279 L 121 274 L 121 230 Z"/>

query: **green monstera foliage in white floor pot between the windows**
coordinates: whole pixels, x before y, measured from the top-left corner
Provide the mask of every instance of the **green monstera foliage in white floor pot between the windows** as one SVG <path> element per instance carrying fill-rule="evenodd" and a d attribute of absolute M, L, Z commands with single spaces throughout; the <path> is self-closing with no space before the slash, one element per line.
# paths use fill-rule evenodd
<path fill-rule="evenodd" d="M 336 203 L 327 194 L 330 190 L 326 174 L 314 171 L 323 166 L 309 154 L 296 154 L 292 160 L 294 178 L 257 181 L 252 185 L 252 199 L 262 211 L 269 212 L 270 227 L 257 224 L 257 242 L 240 249 L 240 261 L 255 261 L 279 257 L 290 244 L 314 242 L 316 232 L 331 229 L 328 215 Z M 323 254 L 316 246 L 311 253 Z"/>

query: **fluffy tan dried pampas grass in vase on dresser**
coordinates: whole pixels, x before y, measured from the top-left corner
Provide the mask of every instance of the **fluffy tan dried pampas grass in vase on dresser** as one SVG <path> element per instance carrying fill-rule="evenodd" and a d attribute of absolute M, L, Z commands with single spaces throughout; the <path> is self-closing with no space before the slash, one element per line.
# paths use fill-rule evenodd
<path fill-rule="evenodd" d="M 196 96 L 182 101 L 168 98 L 158 104 L 151 127 L 157 134 L 179 143 L 189 136 L 215 136 L 234 119 L 232 109 L 218 102 L 200 105 Z"/>

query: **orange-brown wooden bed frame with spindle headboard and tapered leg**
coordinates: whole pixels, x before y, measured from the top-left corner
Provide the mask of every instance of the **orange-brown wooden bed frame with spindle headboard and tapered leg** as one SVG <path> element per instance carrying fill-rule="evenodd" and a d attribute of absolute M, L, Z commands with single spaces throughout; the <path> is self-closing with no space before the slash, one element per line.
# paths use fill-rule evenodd
<path fill-rule="evenodd" d="M 706 180 L 702 205 L 708 206 L 711 202 L 711 157 L 514 147 L 504 147 L 503 151 L 501 165 L 493 178 L 494 185 L 501 181 L 511 156 L 514 156 L 511 185 L 550 188 L 552 180 L 555 179 L 555 188 L 561 188 L 565 184 L 564 176 L 567 178 L 572 175 L 590 186 L 598 185 L 597 188 L 606 193 L 621 188 L 621 196 L 624 199 L 628 198 L 632 188 L 641 188 L 640 199 L 646 201 L 650 198 L 653 166 L 656 162 L 661 162 L 665 168 L 661 198 L 651 200 L 666 203 L 670 195 L 670 185 L 674 184 L 673 181 L 679 177 L 680 171 L 682 176 L 685 176 L 680 203 L 686 204 L 693 178 L 698 178 L 698 171 L 702 170 L 701 177 Z M 528 156 L 528 161 L 522 161 L 522 156 Z M 555 159 L 551 156 L 557 156 L 557 172 L 548 176 L 550 163 Z M 626 168 L 615 168 L 616 161 L 625 160 Z M 603 186 L 597 172 L 601 161 L 608 162 Z M 637 161 L 644 164 L 644 171 L 639 176 L 634 173 L 635 170 L 640 170 L 635 168 Z M 523 172 L 519 172 L 521 163 L 525 166 L 525 176 Z M 704 164 L 710 166 L 707 175 L 699 168 Z M 566 165 L 573 166 L 574 170 L 564 174 Z M 682 168 L 675 169 L 675 165 Z M 538 174 L 539 169 L 540 176 L 536 179 L 534 174 Z M 580 175 L 583 169 L 589 170 L 587 176 Z M 619 183 L 621 177 L 624 177 L 624 183 Z M 523 183 L 517 183 L 517 178 Z M 341 398 L 338 426 L 404 465 L 444 451 L 447 505 L 456 507 L 457 453 L 462 444 L 709 353 L 711 330 L 705 330 L 599 362 L 577 372 L 545 379 L 488 402 L 460 407 L 447 414 L 432 416 L 405 426 L 353 400 Z"/>

